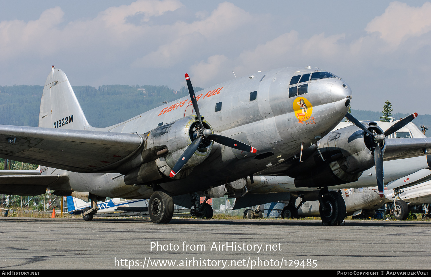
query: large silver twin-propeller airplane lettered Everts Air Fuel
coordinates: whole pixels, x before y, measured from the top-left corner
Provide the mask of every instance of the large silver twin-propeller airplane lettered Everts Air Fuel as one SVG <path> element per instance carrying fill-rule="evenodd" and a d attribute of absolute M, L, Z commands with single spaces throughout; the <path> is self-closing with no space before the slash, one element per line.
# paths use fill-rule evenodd
<path fill-rule="evenodd" d="M 270 171 L 268 175 L 292 175 L 296 187 L 320 189 L 319 202 L 327 214 L 323 220 L 332 225 L 344 218 L 345 207 L 329 186 L 355 181 L 376 164 L 383 197 L 383 159 L 422 156 L 431 143 L 422 138 L 387 141 L 417 113 L 385 132 L 371 121 L 364 125 L 347 113 L 350 86 L 318 68 L 259 72 L 199 95 L 187 74 L 185 79 L 190 98 L 95 128 L 66 74 L 53 66 L 44 85 L 39 127 L 0 125 L 0 157 L 39 164 L 41 175 L 21 177 L 15 185 L 5 178 L 0 193 L 37 195 L 47 188 L 60 196 L 88 193 L 92 205 L 85 215 L 97 212 L 97 197 L 150 198 L 151 220 L 168 223 L 174 198 L 175 204 L 194 206 L 195 214 L 209 216 L 212 209 L 206 201 L 200 203 L 197 192 Z M 345 116 L 354 126 L 331 132 Z M 322 137 L 329 140 L 316 146 Z M 83 179 L 71 186 L 56 170 L 100 174 L 106 182 Z M 118 177 L 109 180 L 106 174 Z"/>

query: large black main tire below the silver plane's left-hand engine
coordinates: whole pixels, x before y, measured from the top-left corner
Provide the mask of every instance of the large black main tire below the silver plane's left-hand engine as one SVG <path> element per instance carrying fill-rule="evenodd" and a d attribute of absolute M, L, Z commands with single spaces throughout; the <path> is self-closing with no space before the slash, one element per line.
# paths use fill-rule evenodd
<path fill-rule="evenodd" d="M 148 214 L 153 223 L 168 223 L 174 215 L 174 201 L 172 196 L 164 190 L 153 192 L 150 197 Z"/>

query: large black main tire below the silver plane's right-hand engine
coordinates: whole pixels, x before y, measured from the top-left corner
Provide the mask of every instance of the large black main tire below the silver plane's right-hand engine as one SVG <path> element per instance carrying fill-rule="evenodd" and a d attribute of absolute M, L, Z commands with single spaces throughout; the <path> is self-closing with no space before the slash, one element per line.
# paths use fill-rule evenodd
<path fill-rule="evenodd" d="M 337 222 L 344 221 L 346 217 L 346 203 L 343 197 L 335 191 L 329 191 L 322 196 L 322 202 L 325 205 L 325 212 L 322 205 L 319 205 L 320 218 L 325 225 L 334 225 Z"/>

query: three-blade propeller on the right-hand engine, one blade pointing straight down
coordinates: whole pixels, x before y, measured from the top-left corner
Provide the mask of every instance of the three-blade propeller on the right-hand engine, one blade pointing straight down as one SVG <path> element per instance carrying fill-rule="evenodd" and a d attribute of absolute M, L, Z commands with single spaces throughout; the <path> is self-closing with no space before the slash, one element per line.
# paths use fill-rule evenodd
<path fill-rule="evenodd" d="M 365 133 L 369 134 L 374 139 L 374 143 L 375 143 L 374 165 L 376 168 L 377 187 L 378 187 L 378 193 L 379 193 L 380 197 L 384 196 L 384 194 L 383 194 L 383 190 L 384 190 L 384 187 L 383 187 L 383 176 L 384 176 L 384 174 L 383 174 L 383 154 L 381 153 L 381 149 L 383 147 L 384 140 L 386 139 L 387 136 L 390 136 L 394 132 L 400 130 L 401 128 L 403 128 L 404 126 L 409 124 L 409 122 L 412 121 L 413 119 L 415 119 L 417 116 L 418 116 L 417 112 L 412 113 L 411 115 L 406 116 L 405 118 L 401 119 L 400 121 L 398 121 L 397 123 L 392 125 L 383 134 L 377 134 L 377 133 L 374 133 L 374 132 L 368 130 L 367 128 L 365 128 L 364 124 L 359 122 L 359 120 L 354 118 L 353 115 L 351 115 L 350 113 L 346 114 L 346 118 L 349 121 L 351 121 L 357 127 L 361 128 Z"/>

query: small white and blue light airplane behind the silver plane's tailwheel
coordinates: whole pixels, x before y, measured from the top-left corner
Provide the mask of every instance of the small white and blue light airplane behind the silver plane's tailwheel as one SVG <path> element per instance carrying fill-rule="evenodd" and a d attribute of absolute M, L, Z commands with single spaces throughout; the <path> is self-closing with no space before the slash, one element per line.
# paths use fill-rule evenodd
<path fill-rule="evenodd" d="M 71 215 L 81 215 L 87 212 L 91 203 L 82 199 L 67 196 L 67 212 Z M 106 201 L 97 202 L 96 214 L 115 214 L 115 215 L 137 215 L 148 212 L 148 199 L 124 199 L 112 198 Z M 83 215 L 84 220 L 93 218 L 95 214 Z M 86 219 L 91 220 L 91 219 Z"/>

